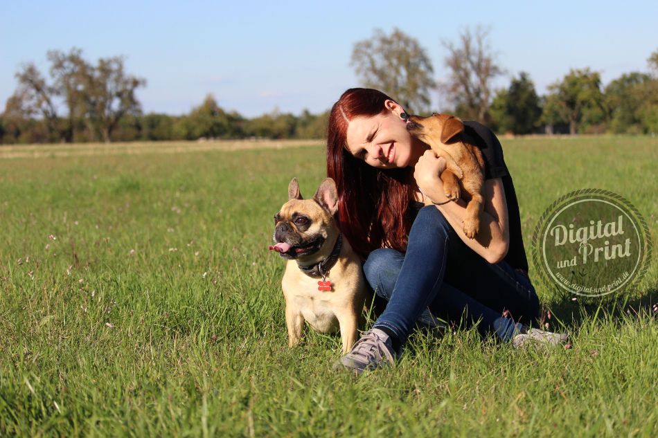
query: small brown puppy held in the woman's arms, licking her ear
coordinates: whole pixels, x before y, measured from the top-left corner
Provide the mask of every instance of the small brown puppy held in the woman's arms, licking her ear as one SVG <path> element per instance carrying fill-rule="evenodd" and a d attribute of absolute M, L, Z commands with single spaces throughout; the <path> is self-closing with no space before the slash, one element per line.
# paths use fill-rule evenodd
<path fill-rule="evenodd" d="M 473 239 L 484 208 L 484 158 L 479 147 L 469 143 L 463 122 L 448 114 L 409 116 L 407 131 L 445 159 L 446 169 L 441 174 L 445 197 L 456 201 L 463 194 L 461 188 L 468 194 L 464 234 Z"/>

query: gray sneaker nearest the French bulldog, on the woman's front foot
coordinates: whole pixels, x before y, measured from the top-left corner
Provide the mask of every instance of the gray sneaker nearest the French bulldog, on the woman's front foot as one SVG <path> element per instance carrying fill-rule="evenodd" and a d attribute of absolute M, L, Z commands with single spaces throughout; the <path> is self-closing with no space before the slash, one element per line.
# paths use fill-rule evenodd
<path fill-rule="evenodd" d="M 364 331 L 348 354 L 341 357 L 334 369 L 347 369 L 357 376 L 366 369 L 375 369 L 384 365 L 395 366 L 395 359 L 400 356 L 395 352 L 389 335 L 380 329 Z"/>

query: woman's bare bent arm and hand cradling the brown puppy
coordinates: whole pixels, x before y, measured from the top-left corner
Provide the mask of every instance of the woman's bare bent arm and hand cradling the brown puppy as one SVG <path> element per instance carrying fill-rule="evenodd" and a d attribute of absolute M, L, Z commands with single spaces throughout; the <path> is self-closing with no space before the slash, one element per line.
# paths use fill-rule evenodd
<path fill-rule="evenodd" d="M 438 177 L 445 169 L 445 160 L 436 158 L 428 151 L 416 164 L 414 177 L 420 191 L 434 203 L 448 201 L 443 192 L 443 182 Z M 463 219 L 466 215 L 466 203 L 463 199 L 436 206 L 448 223 L 454 228 L 459 238 L 487 262 L 496 264 L 505 258 L 509 248 L 509 226 L 505 190 L 500 178 L 484 182 L 484 208 L 480 215 L 480 229 L 475 239 L 466 237 L 463 231 Z"/>

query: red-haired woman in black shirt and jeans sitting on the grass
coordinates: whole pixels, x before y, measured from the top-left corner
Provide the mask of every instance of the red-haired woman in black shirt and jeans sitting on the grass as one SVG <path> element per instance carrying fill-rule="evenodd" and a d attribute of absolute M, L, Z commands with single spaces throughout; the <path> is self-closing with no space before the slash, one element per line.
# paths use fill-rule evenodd
<path fill-rule="evenodd" d="M 339 367 L 359 374 L 400 356 L 416 322 L 473 324 L 514 345 L 566 335 L 528 329 L 540 305 L 528 279 L 519 208 L 495 135 L 464 122 L 486 162 L 480 231 L 465 237 L 465 203 L 443 193 L 443 158 L 407 131 L 404 109 L 374 89 L 349 89 L 329 116 L 327 173 L 336 181 L 341 230 L 366 257 L 364 273 L 386 309 Z M 506 318 L 508 316 L 509 318 Z"/>

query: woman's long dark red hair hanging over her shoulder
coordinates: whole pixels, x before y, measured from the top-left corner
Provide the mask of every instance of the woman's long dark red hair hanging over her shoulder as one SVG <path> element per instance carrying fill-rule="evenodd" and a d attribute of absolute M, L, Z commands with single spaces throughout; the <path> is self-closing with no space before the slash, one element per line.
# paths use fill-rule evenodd
<path fill-rule="evenodd" d="M 336 181 L 341 231 L 362 257 L 382 246 L 406 250 L 411 228 L 407 208 L 418 190 L 410 167 L 377 169 L 347 149 L 349 121 L 384 113 L 386 100 L 393 99 L 381 91 L 348 89 L 329 113 L 327 176 Z"/>

